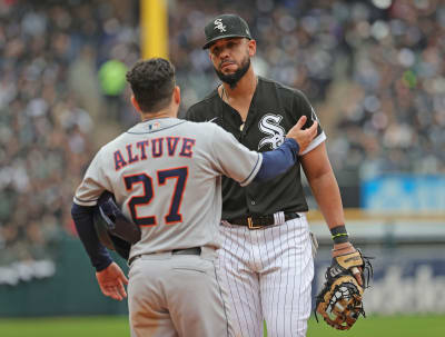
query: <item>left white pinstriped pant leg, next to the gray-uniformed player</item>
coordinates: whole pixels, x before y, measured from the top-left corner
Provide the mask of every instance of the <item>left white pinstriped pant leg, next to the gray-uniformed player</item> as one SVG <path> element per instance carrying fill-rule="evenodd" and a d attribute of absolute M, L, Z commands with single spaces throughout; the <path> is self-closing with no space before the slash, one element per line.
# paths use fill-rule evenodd
<path fill-rule="evenodd" d="M 228 289 L 235 336 L 263 337 L 258 274 L 251 268 L 251 237 L 246 227 L 221 225 L 218 268 Z"/>

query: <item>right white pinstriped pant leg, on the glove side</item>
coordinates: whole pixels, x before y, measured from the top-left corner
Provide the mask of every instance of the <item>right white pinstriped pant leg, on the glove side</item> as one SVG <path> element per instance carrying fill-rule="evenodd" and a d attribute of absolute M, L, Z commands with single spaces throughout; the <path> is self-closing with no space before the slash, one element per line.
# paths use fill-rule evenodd
<path fill-rule="evenodd" d="M 268 337 L 304 337 L 312 309 L 314 259 L 306 217 L 263 232 L 260 279 Z"/>

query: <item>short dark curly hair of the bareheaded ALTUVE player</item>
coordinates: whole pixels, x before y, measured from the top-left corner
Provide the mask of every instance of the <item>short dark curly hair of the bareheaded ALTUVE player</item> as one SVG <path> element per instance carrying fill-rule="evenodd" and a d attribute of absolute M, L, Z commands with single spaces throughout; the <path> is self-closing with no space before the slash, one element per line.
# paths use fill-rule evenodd
<path fill-rule="evenodd" d="M 140 109 L 157 112 L 171 101 L 176 86 L 175 67 L 162 58 L 141 60 L 127 72 L 127 81 Z"/>

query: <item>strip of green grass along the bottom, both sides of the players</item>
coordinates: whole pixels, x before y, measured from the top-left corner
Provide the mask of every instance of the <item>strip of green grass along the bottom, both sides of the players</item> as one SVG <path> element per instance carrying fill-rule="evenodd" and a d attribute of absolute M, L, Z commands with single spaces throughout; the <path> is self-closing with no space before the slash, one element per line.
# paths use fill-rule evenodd
<path fill-rule="evenodd" d="M 123 337 L 130 336 L 127 317 L 69 317 L 0 319 L 1 337 Z M 309 320 L 307 337 L 439 337 L 445 336 L 445 316 L 360 318 L 349 331 Z M 200 336 L 196 336 L 200 337 Z M 218 336 L 215 336 L 218 337 Z"/>

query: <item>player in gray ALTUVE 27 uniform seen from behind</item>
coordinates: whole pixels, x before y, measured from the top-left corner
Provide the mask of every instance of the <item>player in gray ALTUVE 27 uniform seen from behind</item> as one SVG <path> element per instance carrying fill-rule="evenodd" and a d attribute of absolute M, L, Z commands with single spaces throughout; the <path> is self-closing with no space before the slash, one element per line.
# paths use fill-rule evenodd
<path fill-rule="evenodd" d="M 301 118 L 281 147 L 258 153 L 211 122 L 177 119 L 180 90 L 165 59 L 127 73 L 142 121 L 103 146 L 76 190 L 71 209 L 101 291 L 127 294 L 131 336 L 233 336 L 226 291 L 215 267 L 221 175 L 246 186 L 285 172 L 317 133 Z M 129 256 L 129 281 L 100 245 L 92 209 L 103 191 L 141 228 Z"/>

